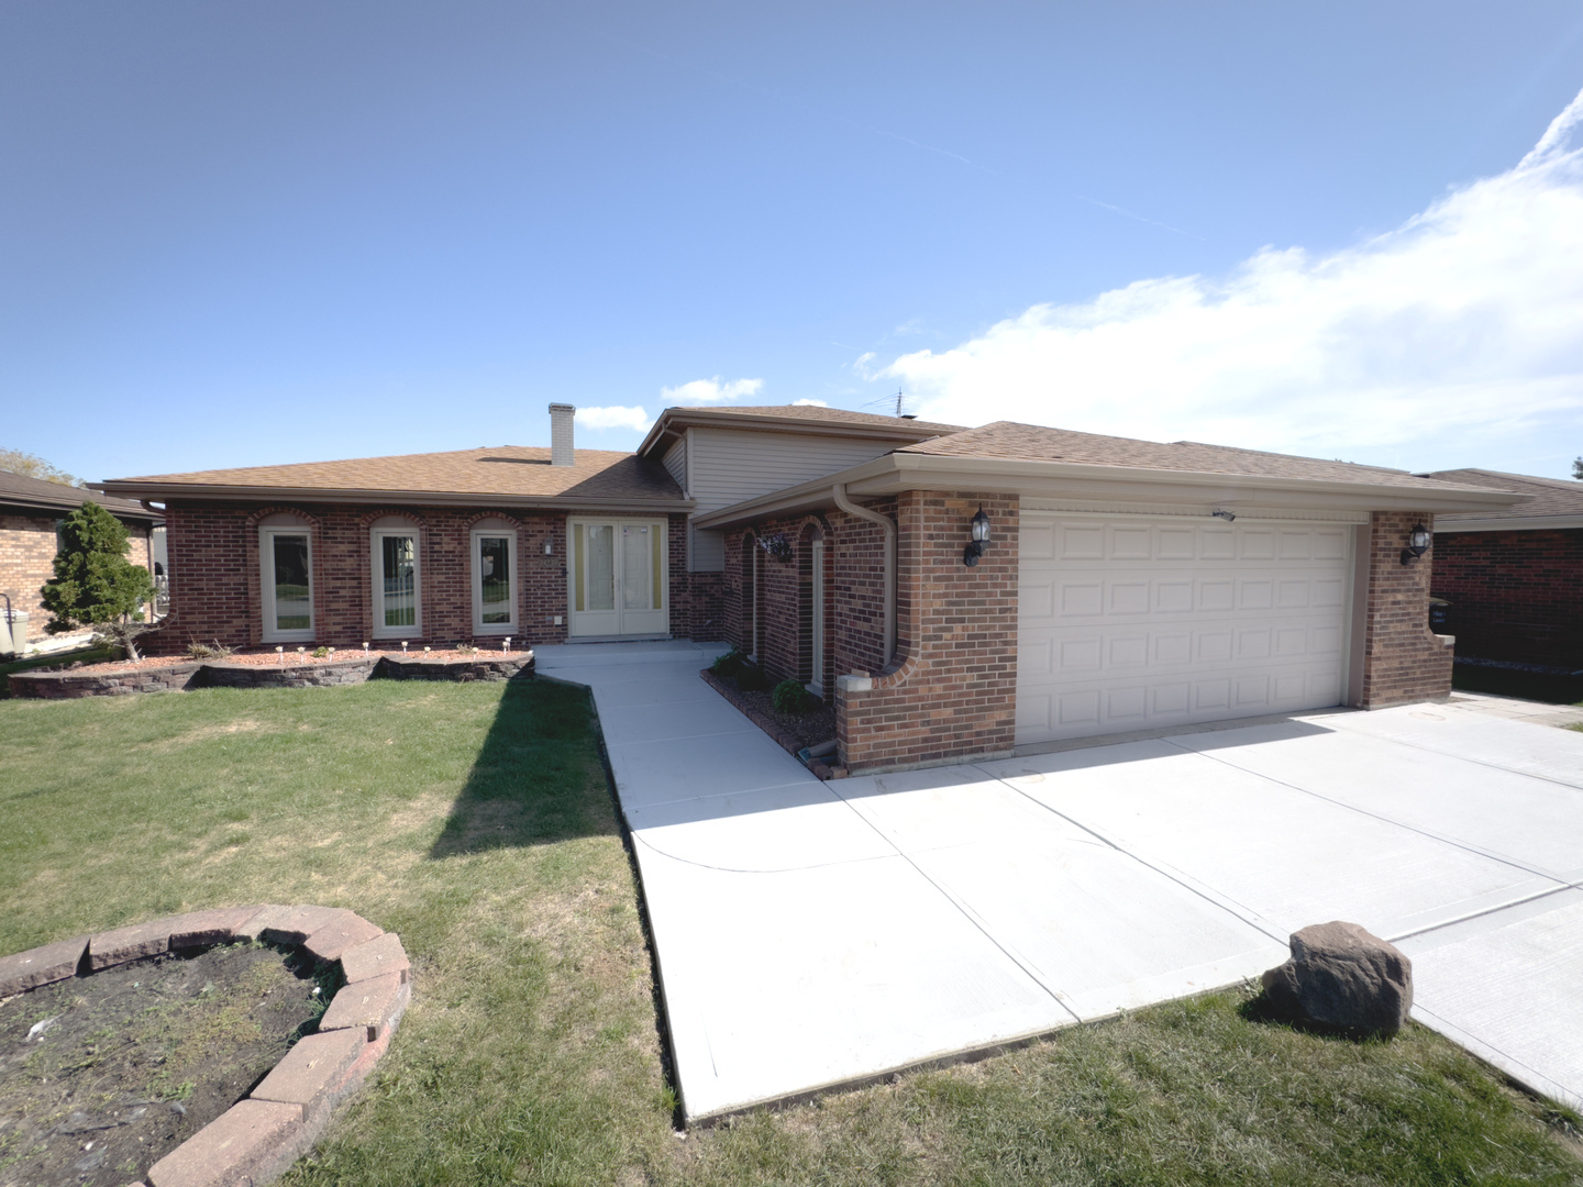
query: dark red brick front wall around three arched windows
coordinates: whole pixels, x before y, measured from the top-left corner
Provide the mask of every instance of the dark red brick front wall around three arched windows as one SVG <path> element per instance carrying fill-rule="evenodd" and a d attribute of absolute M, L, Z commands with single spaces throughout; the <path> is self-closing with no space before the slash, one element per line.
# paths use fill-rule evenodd
<path fill-rule="evenodd" d="M 188 643 L 220 641 L 233 647 L 263 644 L 258 522 L 290 511 L 309 524 L 313 554 L 313 643 L 361 647 L 372 641 L 374 590 L 370 524 L 404 516 L 416 529 L 423 625 L 407 638 L 413 646 L 440 646 L 473 638 L 470 532 L 481 519 L 516 527 L 518 635 L 532 647 L 567 638 L 567 513 L 495 511 L 453 506 L 345 505 L 218 505 L 171 503 L 166 511 L 171 559 L 171 614 L 160 649 L 179 652 Z M 643 516 L 643 511 L 632 511 Z M 682 516 L 670 516 L 671 633 L 690 638 L 712 606 L 709 582 L 693 582 L 685 567 Z M 545 556 L 545 541 L 551 556 Z M 560 617 L 560 625 L 554 617 Z M 480 636 L 499 647 L 499 636 Z M 394 646 L 391 641 L 385 647 Z"/>

